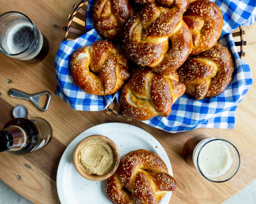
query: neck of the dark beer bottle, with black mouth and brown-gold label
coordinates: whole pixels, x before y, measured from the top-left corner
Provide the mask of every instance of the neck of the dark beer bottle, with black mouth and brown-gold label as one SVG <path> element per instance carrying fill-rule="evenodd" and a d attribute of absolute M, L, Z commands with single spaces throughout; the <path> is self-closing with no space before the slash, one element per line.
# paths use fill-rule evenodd
<path fill-rule="evenodd" d="M 26 131 L 20 126 L 11 125 L 0 131 L 0 152 L 18 151 L 28 142 Z"/>

